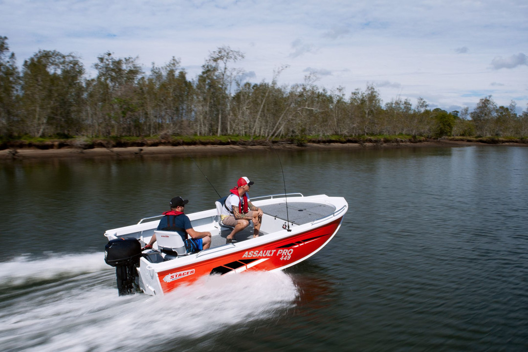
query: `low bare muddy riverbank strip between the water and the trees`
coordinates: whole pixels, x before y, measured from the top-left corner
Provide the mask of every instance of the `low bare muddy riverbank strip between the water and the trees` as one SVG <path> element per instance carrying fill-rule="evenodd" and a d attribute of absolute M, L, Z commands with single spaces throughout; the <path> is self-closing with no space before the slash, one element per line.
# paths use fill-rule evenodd
<path fill-rule="evenodd" d="M 362 149 L 362 148 L 428 148 L 428 147 L 466 147 L 466 146 L 523 146 L 525 143 L 505 142 L 488 144 L 476 141 L 435 140 L 421 142 L 362 142 L 362 143 L 306 143 L 275 144 L 277 150 L 310 150 L 310 149 Z M 82 149 L 64 147 L 58 149 L 20 148 L 0 150 L 1 159 L 27 160 L 46 158 L 93 158 L 93 157 L 137 157 L 154 155 L 226 155 L 269 150 L 266 145 L 191 145 L 191 146 L 146 146 L 120 148 Z"/>

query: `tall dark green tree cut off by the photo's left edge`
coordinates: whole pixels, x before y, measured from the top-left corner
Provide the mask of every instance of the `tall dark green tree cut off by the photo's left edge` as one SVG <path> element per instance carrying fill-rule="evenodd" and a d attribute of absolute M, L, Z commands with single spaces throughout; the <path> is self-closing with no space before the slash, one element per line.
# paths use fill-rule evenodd
<path fill-rule="evenodd" d="M 0 136 L 11 137 L 17 132 L 13 126 L 20 91 L 20 72 L 16 65 L 15 53 L 9 52 L 7 37 L 0 36 Z"/>

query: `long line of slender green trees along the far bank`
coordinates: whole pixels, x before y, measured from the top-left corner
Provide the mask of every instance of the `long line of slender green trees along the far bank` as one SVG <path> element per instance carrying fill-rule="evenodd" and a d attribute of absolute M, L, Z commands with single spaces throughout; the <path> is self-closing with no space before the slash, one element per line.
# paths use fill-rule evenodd
<path fill-rule="evenodd" d="M 266 139 L 299 135 L 528 136 L 528 109 L 512 100 L 497 106 L 492 96 L 469 112 L 429 109 L 419 98 L 383 104 L 374 84 L 350 95 L 327 90 L 308 74 L 304 82 L 244 81 L 236 62 L 244 54 L 222 46 L 211 52 L 195 78 L 180 59 L 148 73 L 138 58 L 98 56 L 95 78 L 86 77 L 78 56 L 39 50 L 18 69 L 7 37 L 0 36 L 0 137 L 221 136 Z"/>

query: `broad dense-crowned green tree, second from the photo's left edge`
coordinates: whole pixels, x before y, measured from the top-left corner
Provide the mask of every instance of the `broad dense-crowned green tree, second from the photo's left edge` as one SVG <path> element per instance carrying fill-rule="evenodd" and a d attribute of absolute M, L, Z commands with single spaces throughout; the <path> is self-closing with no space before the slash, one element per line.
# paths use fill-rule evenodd
<path fill-rule="evenodd" d="M 81 62 L 73 54 L 39 50 L 24 61 L 21 109 L 31 135 L 81 131 L 83 74 Z"/>

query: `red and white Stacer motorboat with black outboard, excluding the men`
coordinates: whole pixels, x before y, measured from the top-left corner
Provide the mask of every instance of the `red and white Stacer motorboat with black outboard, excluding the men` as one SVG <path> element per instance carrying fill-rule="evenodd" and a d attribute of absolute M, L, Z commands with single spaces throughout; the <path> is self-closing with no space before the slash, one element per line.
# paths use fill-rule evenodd
<path fill-rule="evenodd" d="M 165 294 L 206 275 L 230 275 L 244 271 L 282 270 L 321 250 L 339 230 L 348 204 L 343 197 L 304 196 L 301 193 L 251 198 L 263 211 L 258 237 L 251 225 L 235 235 L 221 222 L 216 208 L 186 214 L 196 231 L 211 232 L 209 249 L 187 253 L 182 237 L 156 230 L 159 217 L 146 217 L 135 225 L 105 232 L 109 240 L 105 260 L 116 267 L 119 294 Z M 152 250 L 142 248 L 156 234 Z"/>

